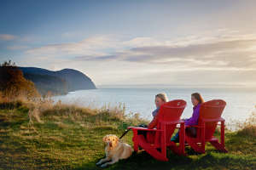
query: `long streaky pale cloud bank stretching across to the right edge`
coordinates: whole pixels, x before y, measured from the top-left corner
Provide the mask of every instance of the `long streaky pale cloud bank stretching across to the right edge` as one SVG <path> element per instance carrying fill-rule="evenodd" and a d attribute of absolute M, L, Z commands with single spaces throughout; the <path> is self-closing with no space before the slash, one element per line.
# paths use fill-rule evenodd
<path fill-rule="evenodd" d="M 256 35 L 220 30 L 188 37 L 88 37 L 79 42 L 49 44 L 26 50 L 38 59 L 121 61 L 156 65 L 168 71 L 256 70 Z"/>

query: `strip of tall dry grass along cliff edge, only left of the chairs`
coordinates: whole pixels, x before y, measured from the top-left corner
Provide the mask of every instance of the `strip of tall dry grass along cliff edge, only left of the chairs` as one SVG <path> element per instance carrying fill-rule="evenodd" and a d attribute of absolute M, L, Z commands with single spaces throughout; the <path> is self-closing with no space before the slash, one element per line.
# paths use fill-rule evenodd
<path fill-rule="evenodd" d="M 94 107 L 82 107 L 76 104 L 67 105 L 63 104 L 61 100 L 54 102 L 51 96 L 45 96 L 44 98 L 37 99 L 0 99 L 0 108 L 2 109 L 15 109 L 20 105 L 25 106 L 28 111 L 29 123 L 34 122 L 44 123 L 50 119 L 58 122 L 70 119 L 73 122 L 78 122 L 82 126 L 96 127 L 104 124 L 111 124 L 111 122 L 117 122 L 119 128 L 126 128 L 127 126 L 137 125 L 139 123 L 148 123 L 139 116 L 138 113 L 134 114 L 130 112 L 125 113 L 125 104 L 119 103 L 118 105 L 103 105 L 101 108 Z M 88 124 L 88 120 L 91 119 Z M 46 121 L 44 121 L 46 120 Z M 84 122 L 86 122 L 84 124 Z"/>

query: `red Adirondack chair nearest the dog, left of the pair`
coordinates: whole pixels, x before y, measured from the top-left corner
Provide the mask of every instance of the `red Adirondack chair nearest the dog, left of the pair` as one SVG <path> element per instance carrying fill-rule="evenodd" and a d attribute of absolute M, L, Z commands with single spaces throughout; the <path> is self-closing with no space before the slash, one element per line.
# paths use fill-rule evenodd
<path fill-rule="evenodd" d="M 166 157 L 167 147 L 179 155 L 184 155 L 185 125 L 180 120 L 180 116 L 185 106 L 186 102 L 182 99 L 172 100 L 161 105 L 158 113 L 160 115 L 157 128 L 128 127 L 133 131 L 132 141 L 134 150 L 138 151 L 138 147 L 140 146 L 149 155 L 160 161 L 168 161 Z M 183 137 L 180 138 L 180 144 L 177 146 L 177 144 L 171 141 L 171 137 L 178 123 L 180 124 L 180 133 L 183 134 Z M 147 139 L 144 138 L 143 134 L 137 134 L 138 130 L 148 131 Z"/>

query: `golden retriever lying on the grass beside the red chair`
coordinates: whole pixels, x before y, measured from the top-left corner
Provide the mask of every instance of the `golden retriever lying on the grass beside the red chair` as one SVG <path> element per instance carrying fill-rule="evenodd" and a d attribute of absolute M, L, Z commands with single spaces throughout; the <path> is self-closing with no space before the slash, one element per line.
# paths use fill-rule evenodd
<path fill-rule="evenodd" d="M 96 163 L 96 165 L 101 165 L 101 167 L 107 167 L 119 159 L 126 159 L 131 156 L 133 149 L 131 145 L 125 144 L 119 141 L 119 138 L 116 135 L 108 134 L 103 137 L 103 142 L 106 145 L 105 153 L 106 157 L 101 159 Z"/>

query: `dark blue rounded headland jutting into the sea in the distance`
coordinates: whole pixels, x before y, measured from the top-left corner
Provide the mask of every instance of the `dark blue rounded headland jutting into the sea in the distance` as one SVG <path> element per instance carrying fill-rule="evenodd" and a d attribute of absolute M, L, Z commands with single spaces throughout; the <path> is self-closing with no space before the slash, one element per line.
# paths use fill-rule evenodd
<path fill-rule="evenodd" d="M 96 89 L 90 77 L 73 69 L 61 71 L 49 71 L 37 67 L 19 67 L 19 69 L 26 79 L 34 82 L 41 94 L 49 91 L 53 94 L 67 94 L 76 90 Z"/>

